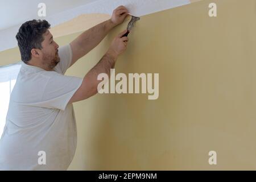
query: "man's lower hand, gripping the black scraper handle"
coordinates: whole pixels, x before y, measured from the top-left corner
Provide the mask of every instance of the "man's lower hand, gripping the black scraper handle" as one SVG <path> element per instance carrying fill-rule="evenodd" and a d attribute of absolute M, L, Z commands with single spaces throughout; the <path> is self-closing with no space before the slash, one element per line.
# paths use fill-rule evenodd
<path fill-rule="evenodd" d="M 109 47 L 107 54 L 112 56 L 114 60 L 116 60 L 118 55 L 123 53 L 127 48 L 127 42 L 129 41 L 129 38 L 127 38 L 127 36 L 122 37 L 126 34 L 126 32 L 127 30 L 118 34 L 118 36 L 114 38 Z"/>

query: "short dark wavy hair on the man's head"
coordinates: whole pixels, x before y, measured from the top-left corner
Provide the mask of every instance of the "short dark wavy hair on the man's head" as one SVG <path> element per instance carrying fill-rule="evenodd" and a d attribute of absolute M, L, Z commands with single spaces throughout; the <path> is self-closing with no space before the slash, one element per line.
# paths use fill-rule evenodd
<path fill-rule="evenodd" d="M 22 24 L 16 35 L 21 59 L 27 63 L 31 59 L 31 50 L 41 49 L 43 34 L 51 26 L 47 20 L 30 20 Z"/>

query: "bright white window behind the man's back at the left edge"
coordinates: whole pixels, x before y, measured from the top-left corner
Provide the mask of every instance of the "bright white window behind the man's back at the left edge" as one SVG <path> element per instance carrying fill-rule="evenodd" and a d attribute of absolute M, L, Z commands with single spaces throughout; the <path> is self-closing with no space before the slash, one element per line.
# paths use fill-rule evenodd
<path fill-rule="evenodd" d="M 5 127 L 11 91 L 16 83 L 21 63 L 0 67 L 0 137 Z"/>

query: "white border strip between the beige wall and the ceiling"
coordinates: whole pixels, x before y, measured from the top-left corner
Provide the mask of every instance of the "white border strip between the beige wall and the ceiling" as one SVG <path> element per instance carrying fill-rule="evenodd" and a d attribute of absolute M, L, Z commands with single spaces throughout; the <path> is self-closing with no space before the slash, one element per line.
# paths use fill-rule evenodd
<path fill-rule="evenodd" d="M 103 13 L 111 15 L 113 10 L 120 5 L 126 6 L 130 14 L 142 16 L 189 3 L 191 3 L 189 0 L 99 0 L 46 18 L 38 17 L 38 19 L 46 19 L 51 24 L 51 27 L 54 27 L 81 14 Z M 0 31 L 0 51 L 17 46 L 15 35 L 21 24 Z"/>

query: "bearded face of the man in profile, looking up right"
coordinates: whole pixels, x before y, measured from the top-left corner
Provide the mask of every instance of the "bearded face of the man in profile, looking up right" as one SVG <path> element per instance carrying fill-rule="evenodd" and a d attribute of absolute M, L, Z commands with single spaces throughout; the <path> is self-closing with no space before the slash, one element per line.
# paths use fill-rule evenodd
<path fill-rule="evenodd" d="M 49 69 L 53 69 L 60 61 L 58 54 L 59 45 L 53 41 L 53 37 L 49 30 L 43 34 L 44 41 L 42 42 L 42 63 L 47 65 Z"/>

